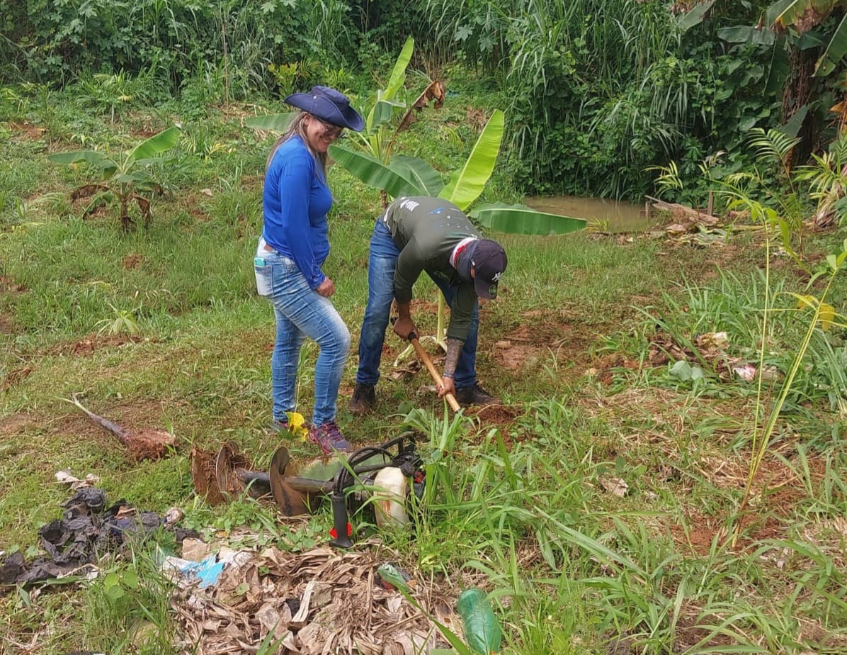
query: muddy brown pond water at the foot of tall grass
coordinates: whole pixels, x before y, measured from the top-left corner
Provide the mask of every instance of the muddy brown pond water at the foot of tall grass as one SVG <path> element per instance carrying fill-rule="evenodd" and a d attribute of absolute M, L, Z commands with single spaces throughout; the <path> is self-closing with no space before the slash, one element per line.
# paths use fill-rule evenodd
<path fill-rule="evenodd" d="M 549 214 L 585 219 L 588 226 L 601 232 L 639 232 L 650 227 L 644 206 L 606 198 L 577 196 L 528 197 L 529 207 Z"/>

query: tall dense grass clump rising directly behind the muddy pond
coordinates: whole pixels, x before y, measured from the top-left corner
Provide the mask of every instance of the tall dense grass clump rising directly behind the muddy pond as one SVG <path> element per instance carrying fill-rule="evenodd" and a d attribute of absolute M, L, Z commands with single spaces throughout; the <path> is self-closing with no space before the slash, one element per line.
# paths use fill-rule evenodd
<path fill-rule="evenodd" d="M 527 192 L 640 199 L 650 189 L 645 167 L 678 159 L 697 180 L 696 163 L 719 147 L 737 169 L 749 159 L 739 111 L 764 125 L 776 114 L 775 92 L 750 90 L 767 80 L 770 54 L 722 43 L 717 13 L 685 31 L 667 5 L 637 0 L 426 8 L 422 47 L 451 42 L 498 81 L 509 103 L 509 172 Z M 739 70 L 740 61 L 762 69 Z"/>

